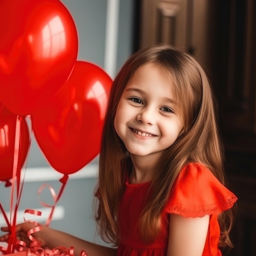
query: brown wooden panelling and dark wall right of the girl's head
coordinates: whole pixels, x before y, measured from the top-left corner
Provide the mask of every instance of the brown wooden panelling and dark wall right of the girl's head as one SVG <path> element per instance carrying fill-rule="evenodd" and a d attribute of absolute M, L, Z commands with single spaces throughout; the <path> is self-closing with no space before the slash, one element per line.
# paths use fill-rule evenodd
<path fill-rule="evenodd" d="M 229 256 L 256 255 L 256 1 L 141 0 L 135 43 L 169 42 L 208 71 L 238 213 Z"/>

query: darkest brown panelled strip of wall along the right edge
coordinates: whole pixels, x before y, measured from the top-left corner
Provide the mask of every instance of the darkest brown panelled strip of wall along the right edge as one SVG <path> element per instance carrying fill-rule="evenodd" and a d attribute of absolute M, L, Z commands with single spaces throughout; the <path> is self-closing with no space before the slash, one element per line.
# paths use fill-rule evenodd
<path fill-rule="evenodd" d="M 256 255 L 256 1 L 218 0 L 213 86 L 227 175 L 238 196 L 230 256 Z"/>

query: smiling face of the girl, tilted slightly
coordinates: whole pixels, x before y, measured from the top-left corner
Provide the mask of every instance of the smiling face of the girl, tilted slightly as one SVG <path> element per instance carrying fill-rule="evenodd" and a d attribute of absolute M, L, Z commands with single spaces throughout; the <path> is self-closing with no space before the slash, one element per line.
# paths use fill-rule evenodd
<path fill-rule="evenodd" d="M 132 155 L 160 156 L 183 126 L 171 79 L 163 68 L 145 64 L 128 81 L 117 106 L 115 130 Z"/>

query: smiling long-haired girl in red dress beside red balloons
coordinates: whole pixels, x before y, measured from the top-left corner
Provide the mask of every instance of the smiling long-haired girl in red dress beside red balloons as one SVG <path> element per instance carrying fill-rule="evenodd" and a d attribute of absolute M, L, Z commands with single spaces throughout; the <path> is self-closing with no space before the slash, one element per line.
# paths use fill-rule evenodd
<path fill-rule="evenodd" d="M 219 247 L 232 246 L 237 198 L 225 187 L 214 107 L 189 54 L 153 45 L 131 56 L 110 93 L 96 193 L 100 234 L 114 247 L 44 226 L 34 238 L 42 247 L 73 246 L 76 255 L 221 256 Z M 16 229 L 27 246 L 32 228 Z"/>

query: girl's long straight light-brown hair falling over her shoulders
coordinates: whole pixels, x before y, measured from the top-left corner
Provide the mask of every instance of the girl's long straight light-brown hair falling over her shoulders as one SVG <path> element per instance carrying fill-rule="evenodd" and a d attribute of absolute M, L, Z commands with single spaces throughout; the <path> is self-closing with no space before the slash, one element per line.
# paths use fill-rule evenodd
<path fill-rule="evenodd" d="M 144 211 L 139 220 L 141 236 L 152 242 L 161 229 L 161 213 L 173 183 L 189 162 L 207 166 L 225 185 L 223 150 L 216 124 L 216 102 L 207 76 L 195 58 L 171 45 L 153 45 L 132 55 L 113 82 L 103 129 L 99 158 L 100 197 L 96 220 L 103 240 L 119 244 L 118 207 L 124 192 L 125 177 L 132 166 L 128 152 L 114 128 L 117 105 L 124 88 L 141 65 L 154 63 L 166 70 L 172 80 L 175 99 L 180 102 L 184 132 L 167 148 L 156 164 Z M 232 210 L 219 215 L 220 245 L 231 246 L 229 231 Z"/>

